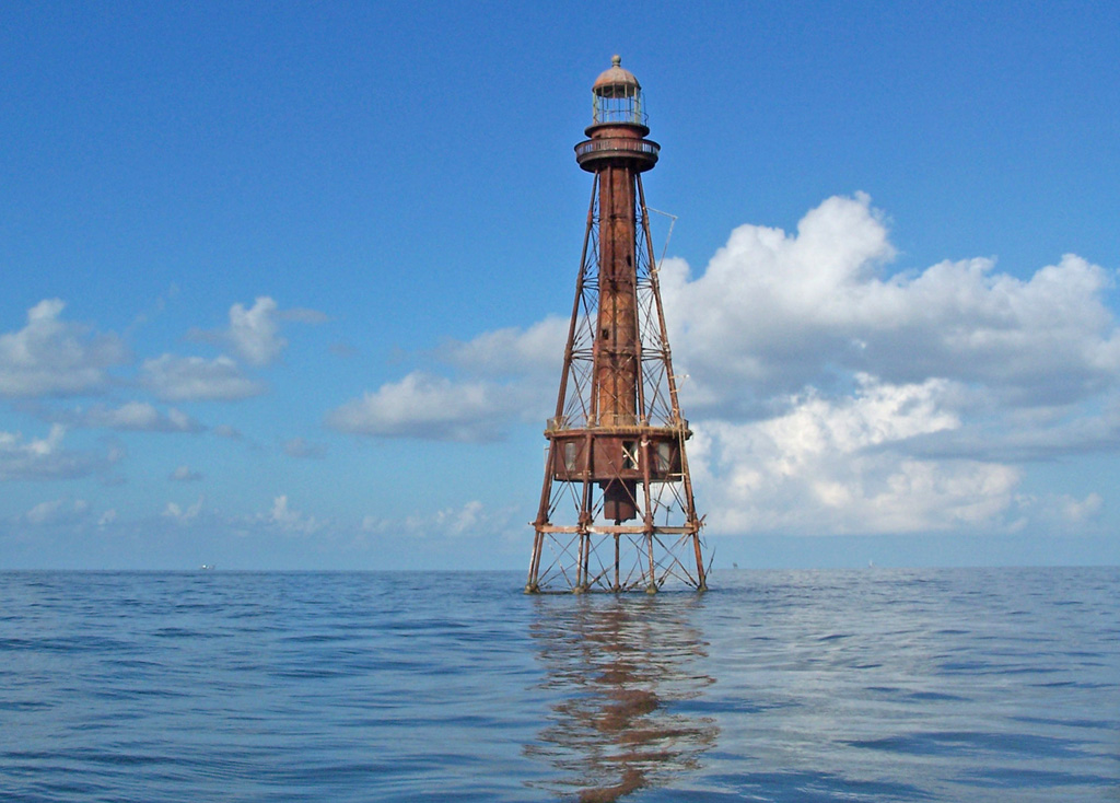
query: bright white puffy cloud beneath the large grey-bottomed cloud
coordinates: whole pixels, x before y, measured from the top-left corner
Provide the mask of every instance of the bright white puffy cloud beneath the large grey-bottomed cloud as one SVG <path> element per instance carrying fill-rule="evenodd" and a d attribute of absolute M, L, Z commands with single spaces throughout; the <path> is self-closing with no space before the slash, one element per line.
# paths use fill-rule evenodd
<path fill-rule="evenodd" d="M 853 396 L 809 393 L 782 415 L 698 424 L 694 482 L 713 532 L 893 533 L 1000 524 L 1018 469 L 923 460 L 912 438 L 960 426 L 940 380 L 860 377 Z"/>

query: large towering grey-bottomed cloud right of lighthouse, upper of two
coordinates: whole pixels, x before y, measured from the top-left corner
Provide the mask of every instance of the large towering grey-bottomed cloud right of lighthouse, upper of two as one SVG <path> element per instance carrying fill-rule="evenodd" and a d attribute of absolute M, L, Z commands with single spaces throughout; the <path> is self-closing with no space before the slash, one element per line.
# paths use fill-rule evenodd
<path fill-rule="evenodd" d="M 668 261 L 666 315 L 692 401 L 746 410 L 830 372 L 979 383 L 1024 405 L 1116 383 L 1109 271 L 1067 254 L 1027 280 L 989 259 L 886 274 L 894 253 L 881 215 L 857 195 L 829 198 L 794 234 L 739 226 L 700 277 Z"/>

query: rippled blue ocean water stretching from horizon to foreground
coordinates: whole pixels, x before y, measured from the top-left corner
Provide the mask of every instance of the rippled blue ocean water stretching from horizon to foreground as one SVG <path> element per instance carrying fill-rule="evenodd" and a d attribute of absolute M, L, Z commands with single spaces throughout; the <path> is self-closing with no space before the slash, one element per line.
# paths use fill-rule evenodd
<path fill-rule="evenodd" d="M 1120 569 L 0 573 L 2 801 L 1120 801 Z"/>

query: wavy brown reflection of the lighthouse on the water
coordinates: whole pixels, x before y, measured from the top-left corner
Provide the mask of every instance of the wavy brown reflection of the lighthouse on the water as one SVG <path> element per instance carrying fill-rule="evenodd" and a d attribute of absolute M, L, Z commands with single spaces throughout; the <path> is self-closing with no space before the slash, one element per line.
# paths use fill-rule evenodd
<path fill-rule="evenodd" d="M 698 671 L 707 644 L 691 624 L 692 595 L 540 597 L 530 634 L 551 699 L 525 747 L 557 771 L 534 783 L 580 801 L 614 801 L 699 767 L 719 735 L 689 701 L 713 681 Z"/>

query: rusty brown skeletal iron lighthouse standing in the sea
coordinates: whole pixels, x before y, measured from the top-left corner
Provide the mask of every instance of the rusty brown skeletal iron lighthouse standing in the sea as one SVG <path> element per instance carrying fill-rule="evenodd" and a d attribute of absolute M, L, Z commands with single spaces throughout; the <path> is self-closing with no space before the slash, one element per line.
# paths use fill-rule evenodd
<path fill-rule="evenodd" d="M 576 161 L 595 176 L 526 592 L 706 588 L 642 174 L 657 164 L 642 86 L 613 65 L 591 87 Z"/>

